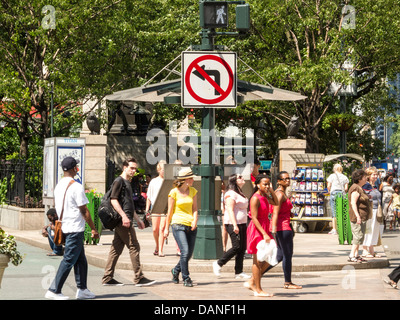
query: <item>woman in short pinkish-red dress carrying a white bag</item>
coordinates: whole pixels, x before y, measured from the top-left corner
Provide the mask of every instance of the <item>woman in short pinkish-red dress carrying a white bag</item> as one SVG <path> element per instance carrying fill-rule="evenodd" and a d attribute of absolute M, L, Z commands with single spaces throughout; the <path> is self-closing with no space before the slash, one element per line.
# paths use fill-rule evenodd
<path fill-rule="evenodd" d="M 267 200 L 268 198 L 268 200 Z M 256 297 L 272 297 L 261 288 L 261 276 L 269 267 L 268 262 L 257 260 L 257 244 L 260 241 L 269 242 L 272 238 L 269 232 L 269 202 L 277 204 L 278 199 L 271 187 L 271 180 L 266 175 L 258 175 L 255 181 L 253 196 L 250 199 L 250 224 L 247 227 L 247 252 L 253 255 L 252 278 L 244 286 L 254 292 Z"/>

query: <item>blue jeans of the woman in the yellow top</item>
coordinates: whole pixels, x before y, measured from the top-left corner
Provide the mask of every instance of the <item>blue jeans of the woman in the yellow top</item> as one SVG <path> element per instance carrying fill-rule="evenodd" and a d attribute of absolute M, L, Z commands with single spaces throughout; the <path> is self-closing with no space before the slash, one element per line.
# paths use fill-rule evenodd
<path fill-rule="evenodd" d="M 176 274 L 182 272 L 182 279 L 189 278 L 189 260 L 192 257 L 194 244 L 196 242 L 197 229 L 190 230 L 191 227 L 182 224 L 171 226 L 175 241 L 181 251 L 181 257 L 174 270 Z"/>

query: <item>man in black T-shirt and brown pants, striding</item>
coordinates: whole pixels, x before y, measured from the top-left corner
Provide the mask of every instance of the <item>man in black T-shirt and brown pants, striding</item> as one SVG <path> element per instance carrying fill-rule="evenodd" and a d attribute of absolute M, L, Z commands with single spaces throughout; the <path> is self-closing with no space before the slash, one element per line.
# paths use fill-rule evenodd
<path fill-rule="evenodd" d="M 114 239 L 111 244 L 107 264 L 102 279 L 103 285 L 123 285 L 114 279 L 115 266 L 119 256 L 126 246 L 132 261 L 134 272 L 133 282 L 136 286 L 148 286 L 155 281 L 147 279 L 140 265 L 140 245 L 136 237 L 133 219 L 136 220 L 139 229 L 144 229 L 144 224 L 135 212 L 131 180 L 137 170 L 137 161 L 134 158 L 125 160 L 122 174 L 114 181 L 111 191 L 111 204 L 122 217 L 122 224 L 114 229 Z"/>

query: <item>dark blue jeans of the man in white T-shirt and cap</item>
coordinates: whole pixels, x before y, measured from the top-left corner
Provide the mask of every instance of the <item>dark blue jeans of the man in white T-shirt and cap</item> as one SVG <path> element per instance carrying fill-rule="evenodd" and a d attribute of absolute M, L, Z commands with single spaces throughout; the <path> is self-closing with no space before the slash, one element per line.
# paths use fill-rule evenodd
<path fill-rule="evenodd" d="M 76 286 L 82 290 L 87 289 L 88 264 L 83 242 L 84 232 L 65 234 L 64 258 L 58 267 L 55 279 L 50 285 L 50 291 L 61 293 L 72 267 L 74 267 Z"/>

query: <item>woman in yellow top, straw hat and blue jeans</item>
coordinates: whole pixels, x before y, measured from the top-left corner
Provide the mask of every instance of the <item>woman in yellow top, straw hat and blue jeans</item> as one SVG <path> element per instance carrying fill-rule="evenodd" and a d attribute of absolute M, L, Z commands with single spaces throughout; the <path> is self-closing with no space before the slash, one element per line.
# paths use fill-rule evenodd
<path fill-rule="evenodd" d="M 197 190 L 192 187 L 193 172 L 183 168 L 168 195 L 168 212 L 164 236 L 168 237 L 171 225 L 175 241 L 181 251 L 178 264 L 171 270 L 172 281 L 179 283 L 182 272 L 183 285 L 193 287 L 189 277 L 189 260 L 192 257 L 197 234 Z"/>

